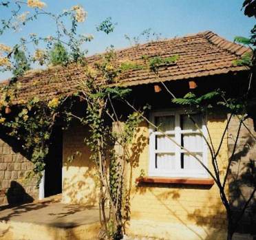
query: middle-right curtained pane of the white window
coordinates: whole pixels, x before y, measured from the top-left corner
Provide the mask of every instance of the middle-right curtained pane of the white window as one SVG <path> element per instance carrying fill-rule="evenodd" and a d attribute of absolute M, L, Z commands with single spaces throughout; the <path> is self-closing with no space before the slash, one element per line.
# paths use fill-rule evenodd
<path fill-rule="evenodd" d="M 182 146 L 189 151 L 202 151 L 203 137 L 198 133 L 182 134 Z"/>

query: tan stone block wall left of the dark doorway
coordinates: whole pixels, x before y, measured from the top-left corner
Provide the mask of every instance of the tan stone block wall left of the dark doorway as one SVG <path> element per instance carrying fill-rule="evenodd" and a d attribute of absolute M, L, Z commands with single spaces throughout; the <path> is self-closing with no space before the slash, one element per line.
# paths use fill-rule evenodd
<path fill-rule="evenodd" d="M 0 205 L 16 205 L 37 199 L 36 182 L 25 180 L 33 165 L 0 139 Z"/>

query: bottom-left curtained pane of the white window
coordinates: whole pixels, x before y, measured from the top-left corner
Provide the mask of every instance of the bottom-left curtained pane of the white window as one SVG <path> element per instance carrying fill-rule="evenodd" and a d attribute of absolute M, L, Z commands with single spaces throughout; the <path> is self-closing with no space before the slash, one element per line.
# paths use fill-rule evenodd
<path fill-rule="evenodd" d="M 163 171 L 170 171 L 175 169 L 175 154 L 157 153 L 156 168 Z"/>

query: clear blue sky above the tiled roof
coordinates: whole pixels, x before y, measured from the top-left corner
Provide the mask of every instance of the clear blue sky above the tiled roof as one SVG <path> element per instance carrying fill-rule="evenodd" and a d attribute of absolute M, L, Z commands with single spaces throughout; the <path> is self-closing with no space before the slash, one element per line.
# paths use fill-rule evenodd
<path fill-rule="evenodd" d="M 116 48 L 127 47 L 129 42 L 124 35 L 138 36 L 143 30 L 151 28 L 164 38 L 212 30 L 233 41 L 234 36 L 248 36 L 255 19 L 245 17 L 241 11 L 241 0 L 45 0 L 47 10 L 61 12 L 80 4 L 88 12 L 88 17 L 79 31 L 94 35 L 94 41 L 85 47 L 89 55 L 103 52 L 109 45 Z M 0 8 L 0 18 L 6 10 Z M 111 17 L 118 23 L 114 33 L 106 36 L 96 32 L 96 25 Z M 52 22 L 39 18 L 19 32 L 8 32 L 0 36 L 0 43 L 14 45 L 21 36 L 36 32 L 42 36 L 52 34 Z M 0 73 L 0 79 L 8 74 Z"/>

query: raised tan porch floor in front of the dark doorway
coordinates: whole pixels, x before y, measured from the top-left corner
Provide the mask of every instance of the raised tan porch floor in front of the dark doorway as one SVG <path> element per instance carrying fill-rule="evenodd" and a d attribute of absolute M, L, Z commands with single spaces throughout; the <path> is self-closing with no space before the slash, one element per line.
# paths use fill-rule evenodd
<path fill-rule="evenodd" d="M 89 206 L 62 204 L 61 197 L 47 198 L 0 212 L 3 240 L 98 239 L 99 211 Z"/>

